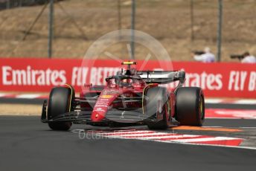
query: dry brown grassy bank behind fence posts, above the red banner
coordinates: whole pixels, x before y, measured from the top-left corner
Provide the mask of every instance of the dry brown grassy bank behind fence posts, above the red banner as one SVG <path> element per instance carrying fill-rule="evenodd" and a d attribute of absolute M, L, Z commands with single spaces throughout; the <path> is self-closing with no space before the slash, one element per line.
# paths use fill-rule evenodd
<path fill-rule="evenodd" d="M 53 58 L 82 58 L 100 36 L 127 28 L 155 37 L 172 60 L 191 61 L 191 51 L 202 51 L 205 46 L 217 55 L 220 2 L 221 61 L 238 62 L 229 56 L 245 51 L 256 55 L 256 0 L 64 0 L 55 1 L 54 10 L 42 3 L 45 1 L 33 6 L 31 0 L 4 1 L 12 2 L 12 7 L 22 7 L 9 9 L 0 0 L 7 8 L 0 11 L 0 57 L 47 58 L 51 54 Z M 51 12 L 53 22 L 49 22 Z M 48 23 L 52 23 L 52 36 Z M 48 45 L 48 39 L 52 39 L 52 45 Z M 144 59 L 145 51 L 135 44 L 135 59 Z M 129 59 L 126 44 L 109 47 L 109 52 Z M 102 54 L 101 58 L 106 56 Z"/>

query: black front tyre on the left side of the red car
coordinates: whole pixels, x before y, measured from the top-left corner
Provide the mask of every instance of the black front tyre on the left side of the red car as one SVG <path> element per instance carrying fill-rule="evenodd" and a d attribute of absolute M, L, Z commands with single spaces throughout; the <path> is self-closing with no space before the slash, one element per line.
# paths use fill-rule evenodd
<path fill-rule="evenodd" d="M 74 99 L 74 89 L 66 87 L 52 88 L 48 102 L 48 120 L 71 111 L 71 101 Z M 72 126 L 71 122 L 50 122 L 53 130 L 66 131 Z"/>

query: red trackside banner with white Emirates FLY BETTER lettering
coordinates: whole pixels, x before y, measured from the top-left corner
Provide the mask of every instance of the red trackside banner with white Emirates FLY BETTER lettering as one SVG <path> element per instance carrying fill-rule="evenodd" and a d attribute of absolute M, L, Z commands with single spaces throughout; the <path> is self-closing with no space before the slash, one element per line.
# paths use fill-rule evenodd
<path fill-rule="evenodd" d="M 256 98 L 254 64 L 138 61 L 136 68 L 142 66 L 185 70 L 185 86 L 199 86 L 207 97 Z M 105 78 L 121 68 L 120 62 L 103 59 L 0 59 L 0 91 L 50 91 L 65 83 L 80 91 L 84 83 L 105 84 Z"/>

